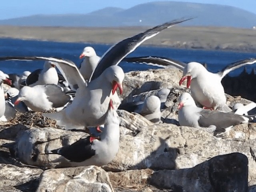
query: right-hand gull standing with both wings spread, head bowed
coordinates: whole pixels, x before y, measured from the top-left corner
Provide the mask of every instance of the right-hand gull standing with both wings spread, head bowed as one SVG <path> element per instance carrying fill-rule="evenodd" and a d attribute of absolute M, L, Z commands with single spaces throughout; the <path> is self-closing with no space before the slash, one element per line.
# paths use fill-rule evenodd
<path fill-rule="evenodd" d="M 200 63 L 190 62 L 185 64 L 166 57 L 144 56 L 126 58 L 125 60 L 128 62 L 144 62 L 164 68 L 175 66 L 183 69 L 180 85 L 187 79 L 187 88 L 190 87 L 194 100 L 206 108 L 223 110 L 225 112 L 231 112 L 232 110 L 226 105 L 226 96 L 221 84 L 222 78 L 232 70 L 256 63 L 256 58 L 239 60 L 229 64 L 218 73 L 212 73 Z"/>

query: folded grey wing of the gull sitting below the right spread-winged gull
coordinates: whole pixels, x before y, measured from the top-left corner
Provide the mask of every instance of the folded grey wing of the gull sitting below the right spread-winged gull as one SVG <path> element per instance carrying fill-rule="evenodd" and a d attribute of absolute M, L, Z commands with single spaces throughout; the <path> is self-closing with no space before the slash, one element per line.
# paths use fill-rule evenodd
<path fill-rule="evenodd" d="M 223 131 L 223 129 L 230 126 L 238 125 L 244 122 L 244 118 L 241 115 L 234 114 L 232 112 L 225 113 L 220 111 L 202 110 L 200 112 L 200 118 L 198 124 L 201 127 L 209 127 L 210 125 L 216 126 L 216 131 Z"/>

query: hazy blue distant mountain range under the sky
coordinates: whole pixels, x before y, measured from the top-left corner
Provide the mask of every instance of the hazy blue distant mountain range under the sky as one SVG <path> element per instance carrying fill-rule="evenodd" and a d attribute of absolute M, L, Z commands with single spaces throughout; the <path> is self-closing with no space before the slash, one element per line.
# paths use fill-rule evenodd
<path fill-rule="evenodd" d="M 0 20 L 15 26 L 154 26 L 182 17 L 196 17 L 182 25 L 252 28 L 256 14 L 232 6 L 188 2 L 150 2 L 129 9 L 108 7 L 88 14 L 33 15 Z"/>

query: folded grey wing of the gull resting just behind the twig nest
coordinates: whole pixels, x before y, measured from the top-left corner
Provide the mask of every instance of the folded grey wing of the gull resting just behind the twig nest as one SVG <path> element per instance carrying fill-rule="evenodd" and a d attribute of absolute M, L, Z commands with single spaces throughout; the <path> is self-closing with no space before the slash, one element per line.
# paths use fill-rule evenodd
<path fill-rule="evenodd" d="M 62 89 L 54 84 L 47 84 L 45 87 L 45 94 L 50 102 L 53 103 L 54 108 L 63 107 L 70 101 L 70 96 L 62 92 Z"/>

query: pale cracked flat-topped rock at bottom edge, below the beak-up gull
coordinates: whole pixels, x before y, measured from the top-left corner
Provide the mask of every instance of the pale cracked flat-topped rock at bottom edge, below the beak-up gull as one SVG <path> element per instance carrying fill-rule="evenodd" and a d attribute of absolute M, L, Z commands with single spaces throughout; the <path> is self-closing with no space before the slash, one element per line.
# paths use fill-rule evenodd
<path fill-rule="evenodd" d="M 87 166 L 46 170 L 36 192 L 114 192 L 108 174 L 100 167 Z"/>

